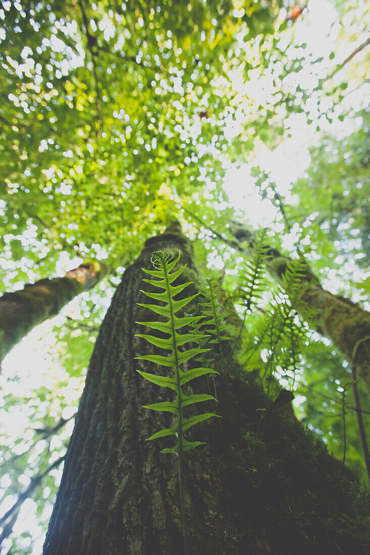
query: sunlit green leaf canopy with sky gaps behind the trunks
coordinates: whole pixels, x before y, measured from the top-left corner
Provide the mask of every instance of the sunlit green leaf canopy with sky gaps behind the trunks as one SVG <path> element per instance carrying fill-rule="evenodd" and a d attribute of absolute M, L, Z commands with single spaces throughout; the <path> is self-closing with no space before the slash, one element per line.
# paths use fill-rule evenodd
<path fill-rule="evenodd" d="M 291 390 L 302 426 L 366 480 L 351 367 L 261 256 L 266 245 L 301 256 L 369 308 L 370 8 L 301 7 L 1 2 L 1 292 L 87 258 L 112 268 L 4 360 L 1 553 L 41 550 L 99 325 L 122 271 L 173 219 L 202 275 L 222 278 L 246 371 Z M 263 228 L 253 256 L 232 246 L 233 223 Z M 368 424 L 361 384 L 360 395 Z"/>

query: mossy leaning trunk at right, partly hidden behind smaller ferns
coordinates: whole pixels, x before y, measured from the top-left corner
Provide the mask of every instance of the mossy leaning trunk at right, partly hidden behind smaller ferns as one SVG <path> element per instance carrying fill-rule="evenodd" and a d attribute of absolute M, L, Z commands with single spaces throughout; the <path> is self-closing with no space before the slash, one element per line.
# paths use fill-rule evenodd
<path fill-rule="evenodd" d="M 252 233 L 236 227 L 232 231 L 243 242 L 239 248 L 248 252 L 253 246 Z M 281 281 L 291 260 L 272 248 L 267 248 L 265 255 L 269 274 Z M 349 299 L 323 289 L 308 264 L 295 307 L 312 329 L 328 337 L 349 364 L 356 366 L 359 379 L 370 392 L 370 313 Z"/>

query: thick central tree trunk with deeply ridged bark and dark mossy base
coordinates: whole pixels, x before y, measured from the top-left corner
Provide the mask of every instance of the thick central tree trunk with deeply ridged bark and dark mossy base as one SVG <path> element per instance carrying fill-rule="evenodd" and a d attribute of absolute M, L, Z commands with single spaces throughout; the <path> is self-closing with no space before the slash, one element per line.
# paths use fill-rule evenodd
<path fill-rule="evenodd" d="M 152 251 L 179 249 L 187 263 L 179 280 L 196 280 L 191 246 L 166 233 L 147 241 L 114 295 L 89 365 L 43 555 L 183 553 L 177 458 L 159 452 L 172 442 L 145 441 L 171 426 L 172 415 L 142 407 L 172 400 L 171 391 L 136 372 L 163 375 L 166 369 L 135 360 L 153 352 L 135 337 L 143 332 L 136 322 L 151 317 L 137 305 L 148 302 L 139 291 L 149 290 L 141 268 L 152 268 Z M 216 369 L 226 367 L 228 381 L 217 379 L 222 418 L 192 428 L 188 438 L 207 445 L 184 455 L 189 553 L 366 553 L 357 522 L 366 514 L 366 496 L 322 443 L 269 408 L 254 373 L 242 375 L 230 354 L 216 352 Z M 206 379 L 190 383 L 194 392 L 206 392 Z M 213 410 L 208 403 L 202 412 Z M 261 408 L 267 408 L 263 420 Z"/>

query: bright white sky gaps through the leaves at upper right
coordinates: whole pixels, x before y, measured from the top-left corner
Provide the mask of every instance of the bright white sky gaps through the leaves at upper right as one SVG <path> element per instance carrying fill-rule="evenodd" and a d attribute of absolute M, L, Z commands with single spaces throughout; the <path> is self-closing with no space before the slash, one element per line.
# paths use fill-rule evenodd
<path fill-rule="evenodd" d="M 363 6 L 359 5 L 359 13 L 362 13 L 362 9 Z M 298 19 L 294 24 L 295 43 L 307 43 L 305 53 L 308 55 L 311 53 L 313 59 L 317 57 L 328 58 L 333 50 L 336 51 L 333 66 L 343 62 L 358 44 L 368 38 L 368 31 L 363 29 L 356 43 L 338 41 L 341 25 L 335 22 L 336 15 L 336 9 L 328 0 L 310 0 L 309 10 L 302 19 Z M 342 22 L 343 25 L 346 23 L 346 21 Z M 358 26 L 354 25 L 352 28 L 348 26 L 347 32 L 348 37 L 351 37 L 352 34 L 358 32 Z M 361 56 L 361 54 L 358 54 L 358 56 Z M 320 77 L 326 77 L 326 72 Z M 337 75 L 337 77 L 340 78 L 341 75 Z M 301 83 L 304 88 L 314 86 L 317 81 L 317 64 L 314 67 L 307 64 L 299 74 L 289 75 L 288 78 L 292 80 L 293 90 L 296 89 L 297 82 Z M 268 94 L 268 91 L 264 90 L 266 86 L 268 86 L 268 83 L 265 81 L 261 84 L 259 75 L 256 74 L 252 77 L 251 82 L 248 82 L 246 94 L 249 98 L 254 95 L 259 103 Z M 349 82 L 349 91 L 356 89 L 356 87 L 356 79 L 353 80 L 353 83 Z M 366 95 L 370 98 L 369 82 L 364 83 L 361 88 L 347 95 L 343 100 L 342 107 L 344 109 L 359 108 Z M 266 145 L 259 145 L 254 150 L 254 158 L 250 164 L 242 166 L 241 169 L 231 169 L 227 173 L 225 189 L 229 199 L 234 206 L 246 214 L 246 220 L 249 220 L 252 225 L 271 225 L 276 218 L 277 210 L 268 201 L 261 200 L 250 175 L 251 166 L 258 165 L 261 169 L 269 172 L 271 180 L 276 183 L 279 193 L 287 195 L 291 183 L 294 183 L 307 169 L 310 162 L 308 148 L 319 140 L 318 137 L 321 132 L 328 132 L 341 138 L 353 130 L 353 123 L 349 120 L 346 124 L 339 119 L 334 119 L 333 123 L 330 124 L 326 119 L 321 118 L 320 120 L 313 120 L 312 124 L 309 125 L 305 114 L 292 114 L 286 122 L 289 123 L 291 138 L 283 140 L 273 152 Z M 317 124 L 321 128 L 319 134 L 316 132 Z M 235 133 L 237 132 L 238 129 L 235 130 Z"/>

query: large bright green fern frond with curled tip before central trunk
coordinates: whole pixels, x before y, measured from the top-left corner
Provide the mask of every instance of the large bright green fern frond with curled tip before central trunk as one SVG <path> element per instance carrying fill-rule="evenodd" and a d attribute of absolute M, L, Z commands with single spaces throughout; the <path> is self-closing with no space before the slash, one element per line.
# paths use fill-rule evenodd
<path fill-rule="evenodd" d="M 211 368 L 194 368 L 191 370 L 187 370 L 184 372 L 181 369 L 181 365 L 184 362 L 192 359 L 194 356 L 201 355 L 203 352 L 208 351 L 208 349 L 184 349 L 179 350 L 179 347 L 185 345 L 189 342 L 194 342 L 203 337 L 205 335 L 196 336 L 194 334 L 184 333 L 179 334 L 177 330 L 180 330 L 184 326 L 191 325 L 194 321 L 193 316 L 185 316 L 179 317 L 176 316 L 176 312 L 183 309 L 186 305 L 189 304 L 198 294 L 192 295 L 187 297 L 186 299 L 181 300 L 174 300 L 174 297 L 181 293 L 186 287 L 191 285 L 193 281 L 188 281 L 187 283 L 180 284 L 180 285 L 172 285 L 173 281 L 176 280 L 183 272 L 183 266 L 177 271 L 172 271 L 174 266 L 178 263 L 180 259 L 180 253 L 178 254 L 177 258 L 173 260 L 172 253 L 164 254 L 162 251 L 156 251 L 152 253 L 152 264 L 156 270 L 146 270 L 143 268 L 143 271 L 146 274 L 154 276 L 156 279 L 144 279 L 150 285 L 154 285 L 163 289 L 160 293 L 152 293 L 148 291 L 142 291 L 144 295 L 151 297 L 152 299 L 162 301 L 166 304 L 166 306 L 159 306 L 154 304 L 140 304 L 147 309 L 156 312 L 161 316 L 164 316 L 167 321 L 161 322 L 137 322 L 138 324 L 142 324 L 144 326 L 151 327 L 153 330 L 158 330 L 167 334 L 168 337 L 163 339 L 162 337 L 156 337 L 154 335 L 149 334 L 137 334 L 138 337 L 143 337 L 149 341 L 149 343 L 159 347 L 160 349 L 166 349 L 171 352 L 169 356 L 163 355 L 143 355 L 137 357 L 138 359 L 148 360 L 150 362 L 154 362 L 155 364 L 159 364 L 162 366 L 170 367 L 174 370 L 174 376 L 158 376 L 156 374 L 147 374 L 146 372 L 141 372 L 138 370 L 139 374 L 141 374 L 146 380 L 149 380 L 153 384 L 162 387 L 169 387 L 177 394 L 177 400 L 166 401 L 161 403 L 153 403 L 152 405 L 146 405 L 144 408 L 150 408 L 154 411 L 167 411 L 172 412 L 174 415 L 177 416 L 176 423 L 171 428 L 165 428 L 164 430 L 160 430 L 157 433 L 154 433 L 151 437 L 148 438 L 149 440 L 154 440 L 159 437 L 164 436 L 175 436 L 176 437 L 176 444 L 173 447 L 167 447 L 162 450 L 162 453 L 176 453 L 178 457 L 178 472 L 179 472 L 179 490 L 180 490 L 180 498 L 181 498 L 181 514 L 182 514 L 182 525 L 183 525 L 183 534 L 184 534 L 184 541 L 185 541 L 185 552 L 187 551 L 186 548 L 186 519 L 184 513 L 184 495 L 183 495 L 183 477 L 182 477 L 182 453 L 184 451 L 188 451 L 193 447 L 197 447 L 198 445 L 202 445 L 203 442 L 201 441 L 188 441 L 184 436 L 183 433 L 186 432 L 191 426 L 197 424 L 198 422 L 202 422 L 203 420 L 207 420 L 207 418 L 211 418 L 212 416 L 217 416 L 213 412 L 206 412 L 202 415 L 196 415 L 192 417 L 184 417 L 182 414 L 183 408 L 187 407 L 188 405 L 192 405 L 193 403 L 198 403 L 202 401 L 214 400 L 212 395 L 207 394 L 191 394 L 188 395 L 182 391 L 182 386 L 186 384 L 188 381 L 193 380 L 198 376 L 204 376 L 207 374 L 218 374 L 216 370 L 212 370 Z M 201 316 L 198 316 L 198 319 Z"/>

